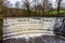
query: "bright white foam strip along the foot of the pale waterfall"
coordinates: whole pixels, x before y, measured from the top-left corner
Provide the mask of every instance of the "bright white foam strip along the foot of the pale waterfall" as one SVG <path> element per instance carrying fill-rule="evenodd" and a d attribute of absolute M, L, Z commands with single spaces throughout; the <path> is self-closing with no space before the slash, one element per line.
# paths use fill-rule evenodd
<path fill-rule="evenodd" d="M 6 39 L 13 39 L 13 38 L 15 38 L 15 39 L 17 39 L 17 38 L 25 38 L 25 39 L 29 39 L 29 38 L 36 38 L 36 37 L 41 37 L 41 35 L 43 35 L 43 33 L 35 33 L 35 34 L 22 34 L 22 35 L 16 35 L 16 37 L 10 37 L 10 38 L 5 38 L 5 39 L 3 39 L 3 40 L 6 40 Z"/>

